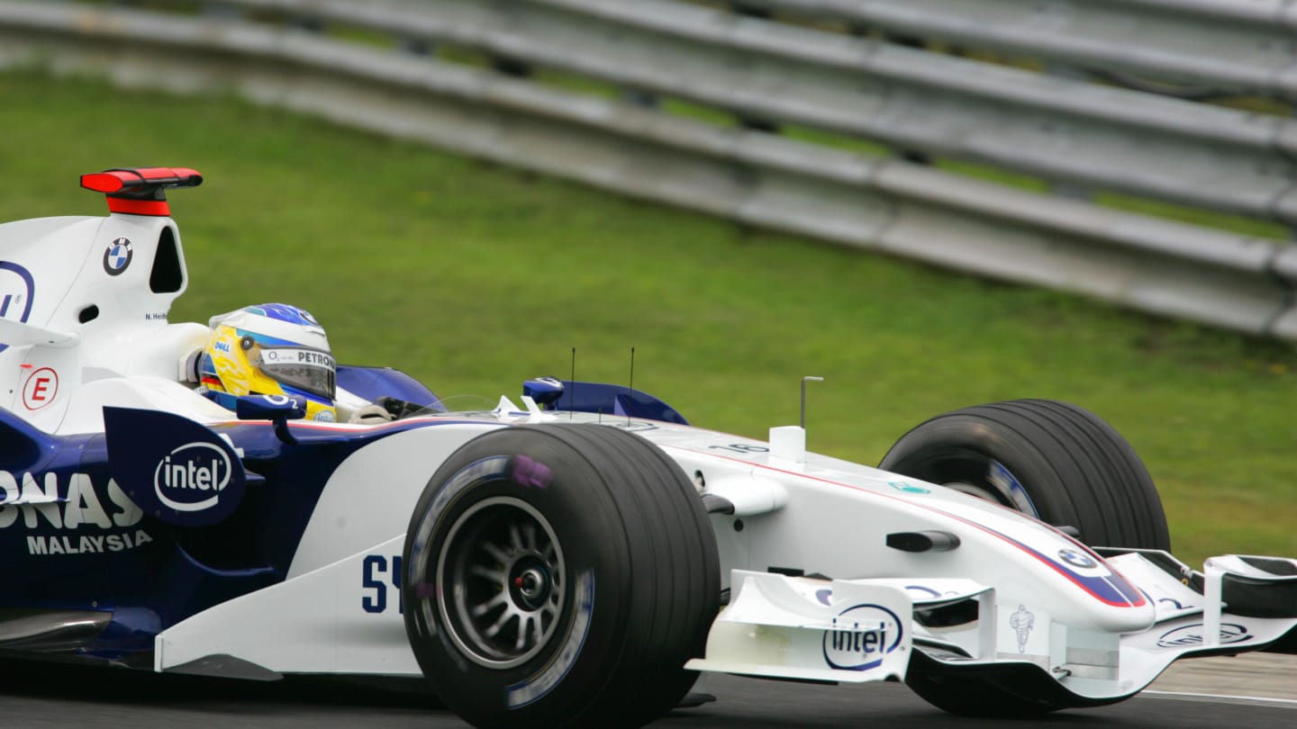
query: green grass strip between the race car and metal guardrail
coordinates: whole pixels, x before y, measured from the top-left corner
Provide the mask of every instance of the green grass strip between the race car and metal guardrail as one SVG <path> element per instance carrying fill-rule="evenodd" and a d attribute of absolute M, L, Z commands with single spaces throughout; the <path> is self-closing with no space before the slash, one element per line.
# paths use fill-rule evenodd
<path fill-rule="evenodd" d="M 171 193 L 189 263 L 173 320 L 262 301 L 313 310 L 339 359 L 441 394 L 625 381 L 693 423 L 877 463 L 925 418 L 1077 402 L 1147 460 L 1176 553 L 1297 554 L 1297 355 L 616 197 L 233 99 L 0 75 L 0 219 L 104 214 L 77 175 L 192 166 Z"/>

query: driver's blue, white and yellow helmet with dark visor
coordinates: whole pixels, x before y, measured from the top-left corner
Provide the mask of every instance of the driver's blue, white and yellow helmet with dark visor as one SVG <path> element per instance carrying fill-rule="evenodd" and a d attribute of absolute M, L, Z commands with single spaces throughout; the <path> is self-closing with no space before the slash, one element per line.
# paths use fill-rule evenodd
<path fill-rule="evenodd" d="M 198 377 L 218 405 L 235 410 L 235 398 L 245 394 L 296 396 L 306 401 L 307 419 L 337 419 L 337 366 L 310 311 L 261 304 L 213 317 L 208 326 Z"/>

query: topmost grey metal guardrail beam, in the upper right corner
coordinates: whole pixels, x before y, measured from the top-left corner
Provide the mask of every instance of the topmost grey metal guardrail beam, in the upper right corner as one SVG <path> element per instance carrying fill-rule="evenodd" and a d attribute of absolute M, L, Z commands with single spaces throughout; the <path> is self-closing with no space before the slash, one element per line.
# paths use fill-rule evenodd
<path fill-rule="evenodd" d="M 742 0 L 974 48 L 1122 70 L 1189 95 L 1297 100 L 1289 0 Z"/>

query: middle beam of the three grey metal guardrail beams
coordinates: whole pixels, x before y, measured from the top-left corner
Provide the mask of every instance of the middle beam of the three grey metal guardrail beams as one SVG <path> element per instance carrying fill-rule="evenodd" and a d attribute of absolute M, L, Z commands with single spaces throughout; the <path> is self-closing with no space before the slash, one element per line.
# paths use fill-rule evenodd
<path fill-rule="evenodd" d="M 1297 223 L 1297 170 L 1289 158 L 1297 152 L 1297 121 L 682 3 L 218 4 L 271 6 L 324 22 L 471 45 L 768 123 L 804 125 L 1003 166 L 1073 189 L 1119 191 Z M 910 8 L 896 0 L 874 5 Z"/>

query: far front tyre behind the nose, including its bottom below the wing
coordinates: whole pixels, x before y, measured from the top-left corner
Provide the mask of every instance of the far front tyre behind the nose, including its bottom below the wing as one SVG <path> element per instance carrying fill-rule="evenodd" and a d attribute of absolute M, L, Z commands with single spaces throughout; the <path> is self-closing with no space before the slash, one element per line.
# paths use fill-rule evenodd
<path fill-rule="evenodd" d="M 1088 545 L 1170 549 L 1162 502 L 1135 450 L 1065 402 L 1017 400 L 938 415 L 896 441 L 879 468 L 1075 527 Z M 1016 668 L 951 669 L 922 650 L 905 684 L 961 716 L 1023 719 L 1074 706 L 1049 695 L 1052 677 L 1025 685 Z"/>

